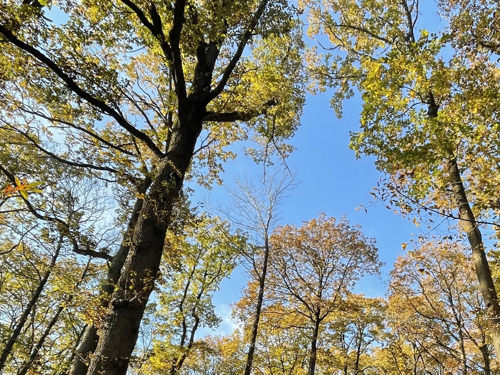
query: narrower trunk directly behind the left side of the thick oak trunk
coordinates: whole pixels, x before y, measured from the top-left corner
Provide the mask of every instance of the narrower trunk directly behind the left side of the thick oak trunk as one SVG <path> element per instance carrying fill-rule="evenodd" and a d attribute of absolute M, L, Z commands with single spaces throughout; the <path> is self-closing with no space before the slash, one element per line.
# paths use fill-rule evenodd
<path fill-rule="evenodd" d="M 151 180 L 149 178 L 146 178 L 143 183 L 138 186 L 137 193 L 145 194 L 150 184 Z M 109 297 L 114 290 L 114 285 L 116 285 L 116 282 L 118 281 L 121 269 L 123 268 L 123 264 L 125 263 L 128 251 L 130 250 L 131 237 L 140 210 L 142 209 L 142 204 L 143 199 L 138 198 L 135 200 L 130 220 L 128 221 L 127 229 L 123 234 L 123 239 L 121 241 L 120 247 L 118 248 L 118 251 L 116 251 L 116 254 L 113 256 L 113 260 L 107 270 L 106 281 L 102 286 L 103 295 L 101 296 L 100 303 L 100 305 L 104 308 L 107 308 L 109 306 Z M 98 339 L 99 335 L 97 333 L 97 328 L 95 327 L 95 325 L 87 324 L 83 333 L 83 337 L 81 338 L 81 342 L 76 349 L 76 353 L 71 364 L 71 369 L 69 371 L 70 375 L 85 375 L 87 373 L 88 356 L 95 351 Z"/>

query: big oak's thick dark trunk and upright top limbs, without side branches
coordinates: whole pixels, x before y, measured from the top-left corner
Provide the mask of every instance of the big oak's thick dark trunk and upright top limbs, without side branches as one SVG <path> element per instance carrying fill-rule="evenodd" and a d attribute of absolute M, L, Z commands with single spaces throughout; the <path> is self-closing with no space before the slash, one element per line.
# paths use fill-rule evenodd
<path fill-rule="evenodd" d="M 132 10 L 153 34 L 162 34 L 161 20 L 154 15 L 153 23 L 147 21 L 140 9 L 130 1 Z M 137 340 L 140 321 L 147 299 L 154 286 L 166 230 L 170 223 L 173 204 L 177 200 L 184 174 L 191 162 L 197 137 L 206 116 L 207 104 L 215 98 L 227 83 L 241 53 L 260 19 L 267 0 L 262 0 L 254 13 L 248 30 L 243 34 L 231 61 L 224 69 L 217 86 L 211 89 L 213 69 L 218 57 L 217 42 L 201 41 L 196 48 L 196 66 L 186 94 L 179 40 L 184 22 L 185 1 L 175 1 L 170 44 L 160 39 L 166 58 L 171 62 L 175 93 L 177 96 L 177 126 L 172 131 L 168 151 L 160 158 L 154 182 L 144 199 L 141 214 L 132 235 L 130 251 L 111 295 L 107 315 L 99 331 L 99 340 L 87 370 L 87 375 L 125 375 L 130 355 Z M 153 11 L 154 8 L 151 8 Z M 153 11 L 153 13 L 155 10 Z M 168 48 L 167 48 L 168 47 Z"/>

